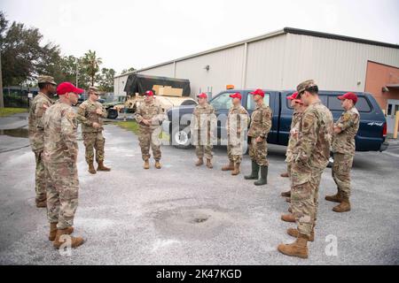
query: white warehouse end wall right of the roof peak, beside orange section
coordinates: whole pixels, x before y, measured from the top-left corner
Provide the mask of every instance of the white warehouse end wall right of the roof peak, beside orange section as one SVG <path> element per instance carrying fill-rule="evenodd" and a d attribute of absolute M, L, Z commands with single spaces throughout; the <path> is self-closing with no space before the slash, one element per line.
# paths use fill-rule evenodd
<path fill-rule="evenodd" d="M 286 34 L 285 50 L 280 89 L 314 79 L 321 89 L 364 91 L 368 60 L 399 67 L 399 50 L 364 43 Z"/>

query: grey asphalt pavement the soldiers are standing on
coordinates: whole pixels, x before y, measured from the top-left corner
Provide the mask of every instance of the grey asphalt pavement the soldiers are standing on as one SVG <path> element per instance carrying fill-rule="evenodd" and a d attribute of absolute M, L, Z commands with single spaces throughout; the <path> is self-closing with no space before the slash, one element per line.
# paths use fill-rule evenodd
<path fill-rule="evenodd" d="M 22 127 L 23 128 L 23 127 Z M 75 235 L 86 242 L 61 255 L 47 240 L 46 211 L 35 208 L 35 158 L 21 134 L 0 132 L 0 264 L 399 264 L 399 144 L 386 153 L 356 153 L 352 210 L 332 212 L 331 169 L 320 186 L 316 240 L 309 259 L 277 250 L 288 224 L 280 195 L 289 187 L 285 147 L 270 145 L 267 186 L 222 172 L 226 148 L 215 148 L 213 170 L 194 165 L 193 149 L 162 147 L 157 170 L 144 170 L 137 136 L 105 126 L 106 165 L 87 172 L 79 140 L 79 207 Z M 0 130 L 2 123 L 0 122 Z M 23 131 L 22 131 L 23 132 Z M 2 134 L 3 133 L 3 134 Z M 13 133 L 13 132 L 12 132 Z"/>

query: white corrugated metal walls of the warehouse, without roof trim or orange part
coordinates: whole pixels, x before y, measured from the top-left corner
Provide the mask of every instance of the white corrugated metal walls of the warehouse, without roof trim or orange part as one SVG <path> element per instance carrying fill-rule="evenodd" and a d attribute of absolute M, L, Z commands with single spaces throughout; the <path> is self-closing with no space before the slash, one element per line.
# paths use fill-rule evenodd
<path fill-rule="evenodd" d="M 241 44 L 177 61 L 176 73 L 173 63 L 140 73 L 167 77 L 176 74 L 176 78 L 188 79 L 193 96 L 208 88 L 212 88 L 215 95 L 227 84 L 236 88 L 293 89 L 308 79 L 316 80 L 321 89 L 364 91 L 368 60 L 399 67 L 399 50 L 310 35 L 281 34 L 248 42 L 247 50 L 245 44 Z M 115 86 L 121 84 L 121 78 L 115 79 Z M 115 88 L 115 93 L 120 89 Z"/>

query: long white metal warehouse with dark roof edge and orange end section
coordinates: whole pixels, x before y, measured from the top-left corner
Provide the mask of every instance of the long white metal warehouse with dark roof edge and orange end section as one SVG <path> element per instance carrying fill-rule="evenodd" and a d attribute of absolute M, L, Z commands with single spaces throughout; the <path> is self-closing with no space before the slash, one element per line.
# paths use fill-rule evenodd
<path fill-rule="evenodd" d="M 315 79 L 325 90 L 368 91 L 388 114 L 399 110 L 399 45 L 286 27 L 137 73 L 191 81 L 192 96 L 235 88 L 293 89 Z M 128 74 L 114 78 L 115 95 Z"/>

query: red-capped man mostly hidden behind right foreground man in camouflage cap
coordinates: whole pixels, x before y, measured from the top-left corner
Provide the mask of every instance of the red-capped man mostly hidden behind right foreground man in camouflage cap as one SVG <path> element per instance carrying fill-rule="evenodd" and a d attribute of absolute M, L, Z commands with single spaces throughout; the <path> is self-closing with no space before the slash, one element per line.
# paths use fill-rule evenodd
<path fill-rule="evenodd" d="M 286 97 L 291 102 L 293 107 L 293 119 L 291 120 L 290 138 L 288 146 L 286 148 L 286 168 L 288 177 L 291 176 L 291 167 L 293 164 L 293 147 L 298 141 L 299 123 L 301 122 L 303 111 L 306 109 L 301 102 L 301 99 L 297 99 L 298 92 L 293 93 L 292 96 Z M 281 196 L 290 197 L 291 189 L 287 192 L 281 193 Z"/>

